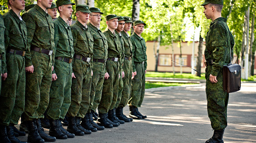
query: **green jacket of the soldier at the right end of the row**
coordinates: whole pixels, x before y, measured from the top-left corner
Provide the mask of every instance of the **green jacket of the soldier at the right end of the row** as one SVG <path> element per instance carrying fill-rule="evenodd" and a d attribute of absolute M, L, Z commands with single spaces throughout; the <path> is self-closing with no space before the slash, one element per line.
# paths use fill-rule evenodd
<path fill-rule="evenodd" d="M 133 72 L 136 71 L 134 62 L 144 62 L 145 70 L 147 69 L 146 42 L 144 38 L 139 37 L 135 32 L 131 35 L 133 44 Z"/>

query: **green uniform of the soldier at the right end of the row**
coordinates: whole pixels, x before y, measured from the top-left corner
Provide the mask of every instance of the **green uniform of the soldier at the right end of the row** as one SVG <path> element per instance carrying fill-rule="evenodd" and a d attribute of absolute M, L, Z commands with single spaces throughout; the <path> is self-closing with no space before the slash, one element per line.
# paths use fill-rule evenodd
<path fill-rule="evenodd" d="M 145 70 L 147 69 L 146 42 L 136 33 L 131 35 L 133 45 L 133 72 L 137 72 L 132 80 L 132 93 L 129 106 L 140 107 L 145 94 Z"/>

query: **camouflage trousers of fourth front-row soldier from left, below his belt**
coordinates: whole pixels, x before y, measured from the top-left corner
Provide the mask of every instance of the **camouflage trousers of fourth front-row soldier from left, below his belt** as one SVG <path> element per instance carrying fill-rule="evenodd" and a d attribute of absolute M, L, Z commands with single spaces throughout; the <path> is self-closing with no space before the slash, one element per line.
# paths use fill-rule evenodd
<path fill-rule="evenodd" d="M 68 117 L 84 118 L 90 105 L 90 91 L 92 85 L 92 68 L 88 62 L 74 59 L 72 79 L 71 104 L 67 111 Z"/>

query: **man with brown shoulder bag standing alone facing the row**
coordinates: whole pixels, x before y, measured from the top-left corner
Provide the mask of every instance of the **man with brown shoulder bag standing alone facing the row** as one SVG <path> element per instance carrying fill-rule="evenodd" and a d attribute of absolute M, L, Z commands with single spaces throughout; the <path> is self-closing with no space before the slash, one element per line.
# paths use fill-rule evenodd
<path fill-rule="evenodd" d="M 223 90 L 223 65 L 228 65 L 233 55 L 234 37 L 221 17 L 223 0 L 205 0 L 203 13 L 211 19 L 206 36 L 204 56 L 206 60 L 206 99 L 208 117 L 211 121 L 213 136 L 205 143 L 223 143 L 224 129 L 227 127 L 227 106 L 229 93 Z M 231 52 L 231 53 L 230 53 Z"/>

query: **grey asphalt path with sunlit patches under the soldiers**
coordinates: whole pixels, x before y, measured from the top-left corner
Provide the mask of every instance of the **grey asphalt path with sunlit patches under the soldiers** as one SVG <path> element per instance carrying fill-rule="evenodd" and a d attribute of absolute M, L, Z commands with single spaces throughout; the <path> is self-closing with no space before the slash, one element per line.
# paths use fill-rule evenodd
<path fill-rule="evenodd" d="M 205 143 L 213 134 L 204 84 L 147 89 L 139 111 L 148 118 L 55 143 Z M 27 141 L 27 136 L 19 138 Z M 223 140 L 256 143 L 256 83 L 242 83 L 239 92 L 229 94 Z"/>

